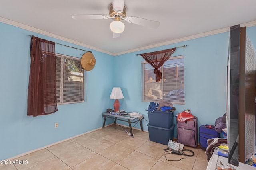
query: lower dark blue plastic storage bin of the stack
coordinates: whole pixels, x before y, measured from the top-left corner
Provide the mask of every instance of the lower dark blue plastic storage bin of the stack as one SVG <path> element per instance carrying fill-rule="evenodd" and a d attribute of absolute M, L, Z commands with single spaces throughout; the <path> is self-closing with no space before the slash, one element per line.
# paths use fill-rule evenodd
<path fill-rule="evenodd" d="M 173 124 L 172 127 L 168 129 L 157 126 L 151 126 L 149 125 L 149 123 L 147 124 L 147 126 L 150 141 L 168 145 L 169 139 L 173 140 L 175 124 Z"/>

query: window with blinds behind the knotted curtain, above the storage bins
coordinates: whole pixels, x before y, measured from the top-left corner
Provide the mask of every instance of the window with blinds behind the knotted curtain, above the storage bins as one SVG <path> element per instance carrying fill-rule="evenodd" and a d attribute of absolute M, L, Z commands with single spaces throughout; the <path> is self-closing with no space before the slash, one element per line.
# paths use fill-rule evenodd
<path fill-rule="evenodd" d="M 170 57 L 159 70 L 162 79 L 156 82 L 154 68 L 142 61 L 142 101 L 165 100 L 173 104 L 185 104 L 184 57 Z"/>

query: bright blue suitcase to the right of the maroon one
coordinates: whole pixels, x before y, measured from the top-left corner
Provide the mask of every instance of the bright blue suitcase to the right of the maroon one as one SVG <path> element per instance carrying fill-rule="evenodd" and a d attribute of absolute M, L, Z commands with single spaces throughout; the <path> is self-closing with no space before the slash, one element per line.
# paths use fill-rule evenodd
<path fill-rule="evenodd" d="M 199 146 L 201 149 L 206 150 L 207 140 L 220 137 L 220 134 L 215 130 L 213 125 L 201 125 L 199 127 Z"/>

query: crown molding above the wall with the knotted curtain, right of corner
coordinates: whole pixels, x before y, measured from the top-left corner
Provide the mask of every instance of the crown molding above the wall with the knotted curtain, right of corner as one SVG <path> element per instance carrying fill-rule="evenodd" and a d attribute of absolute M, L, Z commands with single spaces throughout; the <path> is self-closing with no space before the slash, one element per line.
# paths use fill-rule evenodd
<path fill-rule="evenodd" d="M 252 22 L 248 22 L 248 23 L 242 23 L 240 24 L 240 27 L 252 27 L 256 25 L 256 21 L 252 21 Z M 126 54 L 126 53 L 132 53 L 135 51 L 141 51 L 141 50 L 145 50 L 145 49 L 150 49 L 150 48 L 154 48 L 154 47 L 160 47 L 163 45 L 169 45 L 169 44 L 174 44 L 174 43 L 179 43 L 182 41 L 188 41 L 191 39 L 196 39 L 196 38 L 201 38 L 201 37 L 206 37 L 209 35 L 214 35 L 214 34 L 219 34 L 219 33 L 224 33 L 224 32 L 228 32 L 230 30 L 230 27 L 226 27 L 226 28 L 222 28 L 222 29 L 216 29 L 214 31 L 208 31 L 205 33 L 200 33 L 200 34 L 196 34 L 196 35 L 191 35 L 188 37 L 183 37 L 183 38 L 179 38 L 179 39 L 174 39 L 174 40 L 170 40 L 170 41 L 164 41 L 162 43 L 156 43 L 153 45 L 147 45 L 144 47 L 140 47 L 140 48 L 136 48 L 136 49 L 132 49 L 132 50 L 128 50 L 128 51 L 122 51 L 119 53 L 114 53 L 114 55 L 122 55 L 122 54 Z"/>

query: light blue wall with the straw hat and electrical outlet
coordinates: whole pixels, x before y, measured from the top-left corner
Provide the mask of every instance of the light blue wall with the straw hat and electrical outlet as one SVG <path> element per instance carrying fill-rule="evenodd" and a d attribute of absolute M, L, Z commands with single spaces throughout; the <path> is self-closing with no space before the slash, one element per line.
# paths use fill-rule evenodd
<path fill-rule="evenodd" d="M 58 39 L 0 23 L 0 160 L 4 160 L 102 126 L 101 113 L 112 104 L 114 57 Z M 96 58 L 87 73 L 87 102 L 58 105 L 54 114 L 27 116 L 30 37 L 90 50 Z M 56 53 L 81 57 L 85 51 L 56 44 Z M 59 127 L 54 128 L 58 122 Z"/>

